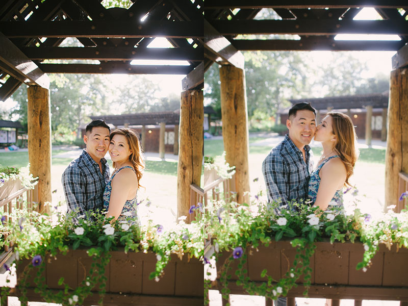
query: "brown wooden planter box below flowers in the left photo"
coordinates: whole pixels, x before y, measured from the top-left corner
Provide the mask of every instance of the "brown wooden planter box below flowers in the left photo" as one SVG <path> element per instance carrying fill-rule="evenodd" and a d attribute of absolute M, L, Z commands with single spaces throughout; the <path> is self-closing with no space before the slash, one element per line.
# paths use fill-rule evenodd
<path fill-rule="evenodd" d="M 202 305 L 203 303 L 203 265 L 197 259 L 187 260 L 187 256 L 180 260 L 171 256 L 164 275 L 159 282 L 149 280 L 149 274 L 155 270 L 156 256 L 154 253 L 128 252 L 123 249 L 111 251 L 111 260 L 106 267 L 107 277 L 104 305 L 119 304 L 148 304 L 148 305 Z M 45 282 L 51 290 L 61 290 L 58 285 L 60 277 L 71 288 L 77 288 L 88 275 L 92 258 L 86 249 L 69 250 L 57 259 L 48 256 L 45 266 Z M 24 260 L 18 265 L 19 271 L 31 261 Z M 31 270 L 30 279 L 34 279 L 36 268 Z M 31 277 L 32 276 L 32 277 Z M 28 285 L 27 297 L 29 301 L 42 301 L 41 296 L 34 293 L 34 283 Z M 95 293 L 97 288 L 93 288 Z M 16 292 L 17 295 L 19 292 Z M 96 305 L 98 294 L 93 294 L 84 302 L 84 305 Z"/>

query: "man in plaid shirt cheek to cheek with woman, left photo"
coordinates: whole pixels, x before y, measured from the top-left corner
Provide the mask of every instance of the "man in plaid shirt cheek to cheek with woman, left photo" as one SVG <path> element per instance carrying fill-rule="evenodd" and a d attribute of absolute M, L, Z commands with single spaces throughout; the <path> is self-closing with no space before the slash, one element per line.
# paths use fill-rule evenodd
<path fill-rule="evenodd" d="M 68 212 L 85 216 L 87 211 L 98 213 L 104 205 L 103 195 L 109 182 L 109 165 L 104 158 L 108 151 L 110 128 L 104 120 L 93 120 L 86 126 L 86 148 L 62 174 L 62 186 Z"/>

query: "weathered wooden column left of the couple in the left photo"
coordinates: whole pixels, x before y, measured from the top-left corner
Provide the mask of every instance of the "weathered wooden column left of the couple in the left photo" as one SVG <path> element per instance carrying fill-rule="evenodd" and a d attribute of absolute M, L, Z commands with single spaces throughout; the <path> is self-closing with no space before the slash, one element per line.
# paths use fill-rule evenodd
<path fill-rule="evenodd" d="M 30 172 L 38 176 L 38 203 L 40 212 L 48 212 L 45 202 L 51 195 L 51 121 L 49 90 L 29 86 L 27 90 L 28 148 Z"/>

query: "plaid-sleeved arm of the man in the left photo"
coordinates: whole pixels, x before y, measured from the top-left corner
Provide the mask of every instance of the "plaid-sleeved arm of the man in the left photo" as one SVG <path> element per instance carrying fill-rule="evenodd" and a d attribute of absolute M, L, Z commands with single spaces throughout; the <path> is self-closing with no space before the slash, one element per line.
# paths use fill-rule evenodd
<path fill-rule="evenodd" d="M 69 212 L 85 216 L 85 183 L 81 172 L 77 168 L 67 168 L 62 174 L 62 187 Z"/>

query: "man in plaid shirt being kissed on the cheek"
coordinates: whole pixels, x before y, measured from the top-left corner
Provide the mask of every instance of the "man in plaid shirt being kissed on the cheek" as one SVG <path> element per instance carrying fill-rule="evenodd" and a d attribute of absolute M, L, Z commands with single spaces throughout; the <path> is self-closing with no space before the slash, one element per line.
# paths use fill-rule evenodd
<path fill-rule="evenodd" d="M 289 135 L 271 150 L 262 163 L 262 172 L 269 202 L 279 202 L 282 209 L 296 210 L 293 202 L 308 197 L 309 175 L 313 170 L 309 143 L 316 132 L 316 111 L 308 103 L 298 103 L 289 110 L 286 120 Z M 279 297 L 277 306 L 286 305 L 286 297 Z"/>

